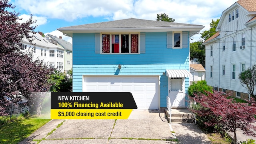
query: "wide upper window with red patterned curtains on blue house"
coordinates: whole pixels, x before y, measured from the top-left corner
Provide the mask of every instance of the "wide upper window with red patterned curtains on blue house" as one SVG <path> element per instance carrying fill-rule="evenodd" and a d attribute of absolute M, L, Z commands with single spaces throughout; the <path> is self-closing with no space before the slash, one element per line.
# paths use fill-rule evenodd
<path fill-rule="evenodd" d="M 139 53 L 139 34 L 102 34 L 101 39 L 102 53 Z"/>

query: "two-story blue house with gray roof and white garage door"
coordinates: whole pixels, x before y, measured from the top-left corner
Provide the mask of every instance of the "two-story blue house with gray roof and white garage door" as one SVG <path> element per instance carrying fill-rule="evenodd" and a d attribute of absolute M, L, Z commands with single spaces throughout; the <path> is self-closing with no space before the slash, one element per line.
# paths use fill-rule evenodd
<path fill-rule="evenodd" d="M 73 92 L 131 92 L 138 109 L 186 107 L 189 40 L 204 26 L 129 18 L 58 28 L 73 38 Z"/>

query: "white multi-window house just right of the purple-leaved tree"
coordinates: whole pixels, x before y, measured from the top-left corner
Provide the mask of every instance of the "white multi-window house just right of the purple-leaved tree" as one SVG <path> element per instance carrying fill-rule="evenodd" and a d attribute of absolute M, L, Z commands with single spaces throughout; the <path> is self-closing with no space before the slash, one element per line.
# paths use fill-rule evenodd
<path fill-rule="evenodd" d="M 48 42 L 45 38 L 42 37 L 42 33 L 30 34 L 33 35 L 32 44 L 30 44 L 26 38 L 23 38 L 23 51 L 32 51 L 33 60 L 38 58 L 39 60 L 43 60 L 44 64 L 47 64 L 49 67 L 54 67 L 64 72 L 65 49 Z"/>

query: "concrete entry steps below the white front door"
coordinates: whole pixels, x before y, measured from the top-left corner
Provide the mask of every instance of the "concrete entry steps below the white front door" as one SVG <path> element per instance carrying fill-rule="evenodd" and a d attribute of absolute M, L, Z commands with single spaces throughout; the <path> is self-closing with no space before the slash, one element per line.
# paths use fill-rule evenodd
<path fill-rule="evenodd" d="M 182 109 L 172 109 L 172 114 L 170 117 L 170 112 L 168 109 L 165 110 L 168 122 L 195 122 L 194 114 L 190 112 L 187 108 Z"/>

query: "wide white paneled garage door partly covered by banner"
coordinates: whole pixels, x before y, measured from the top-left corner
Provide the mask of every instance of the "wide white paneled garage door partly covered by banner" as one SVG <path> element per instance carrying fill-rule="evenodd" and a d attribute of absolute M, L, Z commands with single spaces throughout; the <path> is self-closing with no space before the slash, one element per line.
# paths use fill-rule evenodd
<path fill-rule="evenodd" d="M 159 108 L 159 76 L 83 76 L 83 92 L 131 92 L 138 109 Z"/>

